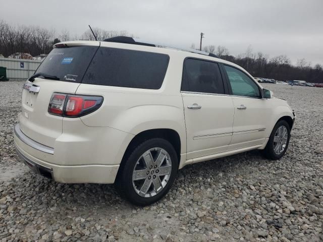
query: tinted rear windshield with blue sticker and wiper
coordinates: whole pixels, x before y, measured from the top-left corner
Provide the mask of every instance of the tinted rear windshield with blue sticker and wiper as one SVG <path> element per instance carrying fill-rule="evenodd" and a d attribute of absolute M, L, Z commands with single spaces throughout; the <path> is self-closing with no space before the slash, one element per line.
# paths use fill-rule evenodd
<path fill-rule="evenodd" d="M 35 73 L 57 76 L 61 81 L 81 82 L 97 48 L 97 46 L 54 48 Z"/>

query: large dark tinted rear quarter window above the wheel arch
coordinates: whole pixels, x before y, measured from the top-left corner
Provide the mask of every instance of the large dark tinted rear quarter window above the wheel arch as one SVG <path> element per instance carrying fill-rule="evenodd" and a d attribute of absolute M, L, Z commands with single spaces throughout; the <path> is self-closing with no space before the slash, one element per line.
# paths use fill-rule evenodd
<path fill-rule="evenodd" d="M 166 54 L 100 47 L 82 83 L 159 89 L 168 63 Z"/>

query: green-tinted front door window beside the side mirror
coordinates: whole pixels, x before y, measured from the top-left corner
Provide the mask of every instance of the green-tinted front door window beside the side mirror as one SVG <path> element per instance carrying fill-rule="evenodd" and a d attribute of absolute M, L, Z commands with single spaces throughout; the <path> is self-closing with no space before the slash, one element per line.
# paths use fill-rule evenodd
<path fill-rule="evenodd" d="M 246 97 L 260 97 L 259 88 L 254 81 L 242 71 L 224 65 L 229 77 L 232 94 Z"/>

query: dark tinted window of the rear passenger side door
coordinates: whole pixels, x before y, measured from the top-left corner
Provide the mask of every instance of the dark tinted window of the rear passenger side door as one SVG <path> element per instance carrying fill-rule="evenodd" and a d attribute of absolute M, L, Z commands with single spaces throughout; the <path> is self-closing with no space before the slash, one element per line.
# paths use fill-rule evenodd
<path fill-rule="evenodd" d="M 182 91 L 224 94 L 224 86 L 217 63 L 186 59 L 183 68 Z"/>

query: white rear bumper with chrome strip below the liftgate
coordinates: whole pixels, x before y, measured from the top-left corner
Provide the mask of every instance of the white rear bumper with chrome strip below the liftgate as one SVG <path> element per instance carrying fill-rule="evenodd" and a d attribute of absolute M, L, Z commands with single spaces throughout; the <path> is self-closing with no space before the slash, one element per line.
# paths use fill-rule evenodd
<path fill-rule="evenodd" d="M 19 131 L 19 124 L 17 124 L 14 129 L 14 144 L 16 151 L 20 159 L 32 171 L 48 178 L 52 178 L 60 183 L 114 183 L 119 165 L 59 165 L 45 161 L 55 160 L 53 158 L 54 154 L 40 150 L 39 147 L 41 147 L 41 144 L 31 140 L 21 131 L 20 134 Z M 50 156 L 50 158 L 48 158 L 48 156 Z M 41 159 L 41 157 L 43 157 L 43 159 Z"/>

